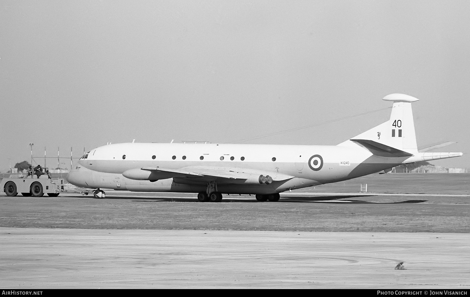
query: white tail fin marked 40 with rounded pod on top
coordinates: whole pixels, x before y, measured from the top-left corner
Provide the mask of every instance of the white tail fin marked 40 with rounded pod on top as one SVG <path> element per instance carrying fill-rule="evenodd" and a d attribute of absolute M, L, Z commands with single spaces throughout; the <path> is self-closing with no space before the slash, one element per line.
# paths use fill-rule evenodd
<path fill-rule="evenodd" d="M 411 102 L 419 99 L 405 94 L 390 94 L 385 96 L 383 100 L 393 102 L 390 119 L 339 145 L 351 145 L 351 141 L 361 144 L 372 141 L 376 143 L 373 144 L 375 147 L 382 147 L 385 150 L 387 150 L 386 147 L 389 147 L 416 154 L 418 151 Z"/>

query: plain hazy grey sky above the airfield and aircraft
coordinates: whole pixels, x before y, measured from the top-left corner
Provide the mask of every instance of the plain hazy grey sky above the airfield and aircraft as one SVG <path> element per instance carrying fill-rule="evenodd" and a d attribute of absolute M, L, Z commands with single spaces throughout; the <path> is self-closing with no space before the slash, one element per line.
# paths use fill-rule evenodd
<path fill-rule="evenodd" d="M 1 172 L 31 142 L 69 157 L 133 139 L 235 142 L 386 108 L 392 93 L 420 99 L 418 147 L 466 153 L 431 163 L 470 168 L 469 1 L 0 4 Z M 336 145 L 389 117 L 249 142 Z"/>

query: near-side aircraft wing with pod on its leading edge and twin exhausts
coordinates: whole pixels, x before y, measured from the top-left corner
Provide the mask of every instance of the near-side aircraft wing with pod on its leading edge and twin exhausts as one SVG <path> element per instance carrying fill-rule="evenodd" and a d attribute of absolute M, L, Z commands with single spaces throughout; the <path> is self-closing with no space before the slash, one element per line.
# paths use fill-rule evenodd
<path fill-rule="evenodd" d="M 263 170 L 255 170 L 248 168 L 237 168 L 237 167 L 217 167 L 217 166 L 187 166 L 180 169 L 166 169 L 160 167 L 144 167 L 141 170 L 163 173 L 168 178 L 182 178 L 200 181 L 211 181 L 217 180 L 219 182 L 253 182 L 259 183 L 258 179 L 260 175 L 271 176 L 274 181 L 289 180 L 294 178 L 293 176 L 277 173 L 268 172 Z"/>

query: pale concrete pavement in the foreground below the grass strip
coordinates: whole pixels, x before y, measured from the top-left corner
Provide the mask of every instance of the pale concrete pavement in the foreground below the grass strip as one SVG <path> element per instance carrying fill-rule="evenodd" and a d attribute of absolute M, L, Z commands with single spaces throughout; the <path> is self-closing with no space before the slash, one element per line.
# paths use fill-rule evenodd
<path fill-rule="evenodd" d="M 0 228 L 4 288 L 469 289 L 470 235 Z M 394 270 L 404 262 L 406 270 Z"/>

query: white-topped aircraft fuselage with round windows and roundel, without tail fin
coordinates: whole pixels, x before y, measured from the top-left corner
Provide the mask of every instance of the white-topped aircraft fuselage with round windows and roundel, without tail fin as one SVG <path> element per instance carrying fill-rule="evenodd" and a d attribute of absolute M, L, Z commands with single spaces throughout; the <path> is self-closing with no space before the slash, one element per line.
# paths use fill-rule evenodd
<path fill-rule="evenodd" d="M 312 160 L 316 155 L 321 156 L 321 164 Z M 405 159 L 374 156 L 358 145 L 118 143 L 91 150 L 78 161 L 67 179 L 85 188 L 197 193 L 206 188 L 205 181 L 182 178 L 133 180 L 123 176 L 128 170 L 143 167 L 180 170 L 196 166 L 270 175 L 274 182 L 269 185 L 218 181 L 221 193 L 267 194 L 352 179 L 391 168 Z M 276 180 L 276 175 L 290 178 Z"/>

